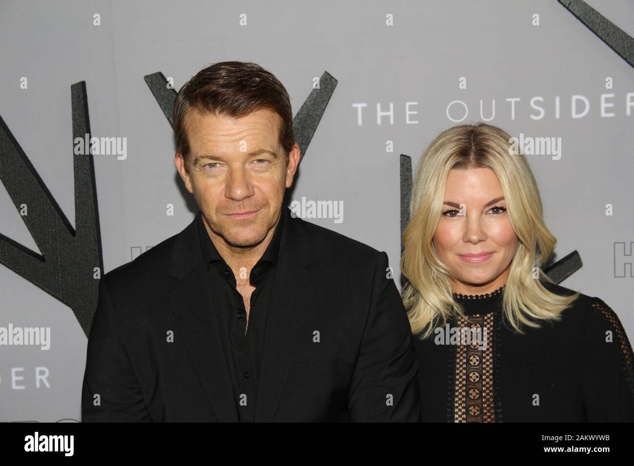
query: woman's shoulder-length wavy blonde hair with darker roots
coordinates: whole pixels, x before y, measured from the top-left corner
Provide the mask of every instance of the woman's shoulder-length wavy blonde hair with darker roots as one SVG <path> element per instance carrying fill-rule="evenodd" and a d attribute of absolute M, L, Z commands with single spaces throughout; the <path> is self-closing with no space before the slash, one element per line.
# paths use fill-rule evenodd
<path fill-rule="evenodd" d="M 560 313 L 579 294 L 557 295 L 539 278 L 553 283 L 541 266 L 557 239 L 543 220 L 540 193 L 524 155 L 511 155 L 510 136 L 486 123 L 447 129 L 429 145 L 418 164 L 410 202 L 410 224 L 403 233 L 401 273 L 406 278 L 401 295 L 412 333 L 425 339 L 434 327 L 464 309 L 453 300 L 453 273 L 439 259 L 432 238 L 443 211 L 444 190 L 451 169 L 485 167 L 500 180 L 517 247 L 503 290 L 503 318 L 518 333 L 522 326 L 538 328 L 539 320 L 560 320 Z"/>

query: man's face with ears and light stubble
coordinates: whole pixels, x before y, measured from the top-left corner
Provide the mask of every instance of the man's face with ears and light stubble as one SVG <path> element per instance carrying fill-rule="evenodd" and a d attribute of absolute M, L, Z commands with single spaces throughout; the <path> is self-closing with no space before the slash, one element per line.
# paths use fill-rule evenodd
<path fill-rule="evenodd" d="M 280 125 L 268 108 L 240 118 L 195 109 L 186 116 L 190 171 L 180 153 L 176 167 L 212 233 L 231 247 L 258 245 L 278 221 L 299 162 L 295 145 L 287 163 Z"/>

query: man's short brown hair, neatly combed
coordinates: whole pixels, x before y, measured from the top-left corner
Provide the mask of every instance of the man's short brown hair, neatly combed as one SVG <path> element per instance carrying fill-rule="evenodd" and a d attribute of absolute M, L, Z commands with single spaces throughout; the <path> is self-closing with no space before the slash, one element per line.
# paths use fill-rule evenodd
<path fill-rule="evenodd" d="M 190 145 L 184 122 L 191 108 L 228 117 L 243 117 L 255 110 L 269 108 L 280 115 L 279 138 L 287 157 L 295 144 L 293 113 L 287 90 L 275 75 L 257 63 L 214 63 L 200 70 L 178 91 L 174 102 L 174 136 L 176 152 L 180 152 L 186 161 Z"/>

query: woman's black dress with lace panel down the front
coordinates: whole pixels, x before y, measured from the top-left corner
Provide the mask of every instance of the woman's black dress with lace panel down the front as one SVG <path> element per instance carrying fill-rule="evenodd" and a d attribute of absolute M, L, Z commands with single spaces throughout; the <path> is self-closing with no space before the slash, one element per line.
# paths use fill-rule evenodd
<path fill-rule="evenodd" d="M 454 294 L 471 321 L 413 336 L 423 422 L 634 422 L 634 355 L 614 311 L 581 294 L 521 335 L 502 320 L 503 289 Z"/>

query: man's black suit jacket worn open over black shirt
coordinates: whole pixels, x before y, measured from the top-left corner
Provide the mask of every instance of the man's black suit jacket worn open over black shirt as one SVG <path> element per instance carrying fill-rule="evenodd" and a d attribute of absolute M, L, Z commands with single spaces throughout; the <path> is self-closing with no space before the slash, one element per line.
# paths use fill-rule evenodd
<path fill-rule="evenodd" d="M 282 214 L 256 422 L 420 420 L 385 252 Z M 195 222 L 101 278 L 84 421 L 238 421 Z"/>

